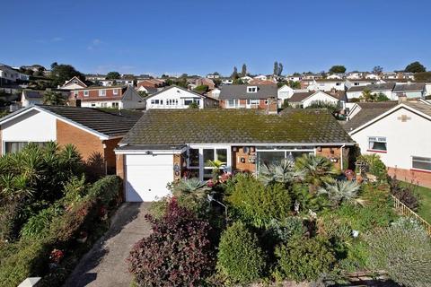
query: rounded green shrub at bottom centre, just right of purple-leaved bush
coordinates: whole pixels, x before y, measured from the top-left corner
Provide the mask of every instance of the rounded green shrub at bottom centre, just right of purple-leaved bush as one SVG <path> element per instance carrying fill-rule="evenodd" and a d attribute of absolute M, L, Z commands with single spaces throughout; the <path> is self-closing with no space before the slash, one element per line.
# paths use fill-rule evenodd
<path fill-rule="evenodd" d="M 251 283 L 260 278 L 265 257 L 255 234 L 242 222 L 235 222 L 222 234 L 217 268 L 234 283 Z"/>

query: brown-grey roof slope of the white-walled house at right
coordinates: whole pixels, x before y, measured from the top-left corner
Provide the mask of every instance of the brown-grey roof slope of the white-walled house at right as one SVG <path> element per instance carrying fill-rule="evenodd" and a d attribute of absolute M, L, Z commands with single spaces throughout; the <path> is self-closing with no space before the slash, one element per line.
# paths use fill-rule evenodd
<path fill-rule="evenodd" d="M 357 103 L 361 110 L 352 117 L 346 124 L 343 125 L 347 132 L 353 131 L 359 126 L 365 125 L 375 117 L 379 117 L 386 111 L 395 107 L 397 101 L 385 101 L 385 102 L 361 102 Z"/>

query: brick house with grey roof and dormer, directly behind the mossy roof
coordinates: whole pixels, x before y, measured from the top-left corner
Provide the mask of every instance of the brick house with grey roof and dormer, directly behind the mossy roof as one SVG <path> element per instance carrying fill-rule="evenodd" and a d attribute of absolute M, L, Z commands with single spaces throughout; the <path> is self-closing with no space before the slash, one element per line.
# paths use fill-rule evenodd
<path fill-rule="evenodd" d="M 223 109 L 268 109 L 269 101 L 277 103 L 277 84 L 231 84 L 220 88 Z"/>

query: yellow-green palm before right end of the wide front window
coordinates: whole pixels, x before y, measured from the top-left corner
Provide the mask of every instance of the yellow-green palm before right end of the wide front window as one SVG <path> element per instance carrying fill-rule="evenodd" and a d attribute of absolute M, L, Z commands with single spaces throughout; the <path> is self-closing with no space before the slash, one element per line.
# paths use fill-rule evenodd
<path fill-rule="evenodd" d="M 303 171 L 303 181 L 310 184 L 311 192 L 315 192 L 323 184 L 333 183 L 333 176 L 337 174 L 330 160 L 310 153 L 303 154 L 295 165 L 297 170 Z"/>

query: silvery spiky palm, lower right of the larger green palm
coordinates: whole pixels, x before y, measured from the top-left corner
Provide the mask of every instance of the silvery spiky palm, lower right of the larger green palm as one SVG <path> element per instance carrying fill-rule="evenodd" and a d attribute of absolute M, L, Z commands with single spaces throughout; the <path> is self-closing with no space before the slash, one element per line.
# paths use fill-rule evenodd
<path fill-rule="evenodd" d="M 356 181 L 337 180 L 334 184 L 326 184 L 318 191 L 319 195 L 327 195 L 330 202 L 338 206 L 342 202 L 351 204 L 364 204 L 364 201 L 357 198 L 360 185 Z"/>

